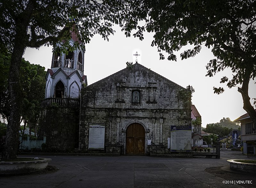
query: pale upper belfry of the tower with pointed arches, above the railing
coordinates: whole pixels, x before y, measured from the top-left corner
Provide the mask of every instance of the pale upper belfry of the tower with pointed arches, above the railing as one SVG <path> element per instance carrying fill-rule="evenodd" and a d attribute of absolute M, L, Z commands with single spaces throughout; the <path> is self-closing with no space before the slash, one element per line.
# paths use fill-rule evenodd
<path fill-rule="evenodd" d="M 52 66 L 46 74 L 45 98 L 78 99 L 82 84 L 87 85 L 84 75 L 85 47 L 77 33 L 73 26 L 69 43 L 71 46 L 78 44 L 74 51 L 60 52 L 61 43 L 53 51 Z"/>

